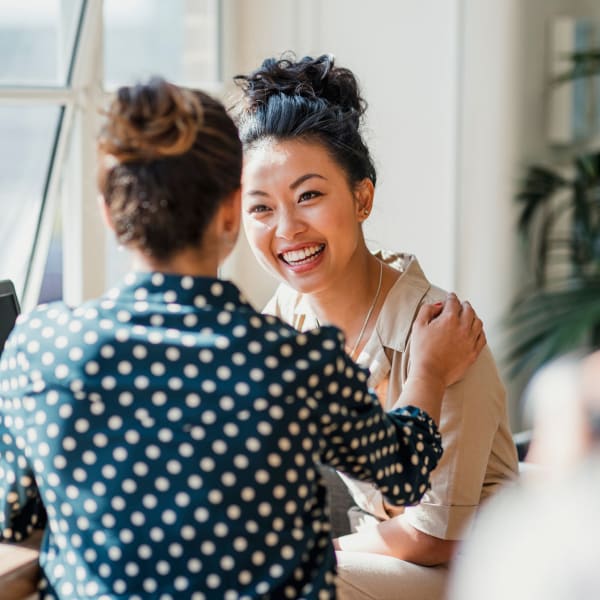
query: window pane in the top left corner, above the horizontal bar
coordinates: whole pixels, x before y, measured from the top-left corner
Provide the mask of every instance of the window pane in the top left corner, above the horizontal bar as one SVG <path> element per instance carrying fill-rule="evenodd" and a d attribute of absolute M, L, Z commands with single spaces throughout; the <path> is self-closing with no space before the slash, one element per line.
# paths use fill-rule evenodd
<path fill-rule="evenodd" d="M 64 86 L 82 0 L 0 0 L 0 85 Z"/>

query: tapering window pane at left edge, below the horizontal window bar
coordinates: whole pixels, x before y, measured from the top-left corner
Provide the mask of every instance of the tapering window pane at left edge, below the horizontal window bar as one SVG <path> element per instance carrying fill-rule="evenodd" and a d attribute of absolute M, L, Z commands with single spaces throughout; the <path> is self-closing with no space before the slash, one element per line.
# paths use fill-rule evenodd
<path fill-rule="evenodd" d="M 40 219 L 62 108 L 0 105 L 0 279 L 19 297 Z"/>

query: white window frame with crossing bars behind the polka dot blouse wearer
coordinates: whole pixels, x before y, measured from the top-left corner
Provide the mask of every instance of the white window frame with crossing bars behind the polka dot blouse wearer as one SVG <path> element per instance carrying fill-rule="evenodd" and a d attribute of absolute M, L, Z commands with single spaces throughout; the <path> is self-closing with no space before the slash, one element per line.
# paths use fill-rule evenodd
<path fill-rule="evenodd" d="M 217 0 L 220 81 L 202 84 L 203 89 L 215 95 L 223 91 L 223 4 Z M 114 94 L 104 87 L 104 2 L 82 0 L 80 10 L 64 86 L 0 85 L 0 104 L 61 107 L 20 298 L 24 311 L 39 302 L 57 211 L 62 220 L 63 300 L 71 305 L 80 304 L 99 296 L 107 284 L 114 282 L 114 274 L 107 273 L 107 264 L 108 253 L 114 253 L 116 244 L 100 218 L 96 188 L 99 108 Z M 61 194 L 61 190 L 67 193 Z"/>

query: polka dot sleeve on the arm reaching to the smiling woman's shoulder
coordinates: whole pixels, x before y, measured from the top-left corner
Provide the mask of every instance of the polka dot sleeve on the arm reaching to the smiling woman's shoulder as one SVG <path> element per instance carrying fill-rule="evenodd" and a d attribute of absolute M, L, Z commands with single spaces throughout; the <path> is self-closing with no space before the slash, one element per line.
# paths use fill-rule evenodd
<path fill-rule="evenodd" d="M 418 502 L 442 455 L 435 423 L 415 407 L 385 413 L 367 388 L 368 371 L 343 351 L 341 332 L 320 331 L 321 363 L 309 387 L 319 414 L 323 462 L 376 483 L 394 504 Z"/>

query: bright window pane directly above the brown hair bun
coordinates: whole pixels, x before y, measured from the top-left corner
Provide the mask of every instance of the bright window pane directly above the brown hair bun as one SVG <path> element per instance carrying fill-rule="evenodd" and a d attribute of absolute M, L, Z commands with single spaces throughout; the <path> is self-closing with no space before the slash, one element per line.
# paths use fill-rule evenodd
<path fill-rule="evenodd" d="M 161 75 L 180 85 L 219 80 L 218 0 L 105 0 L 108 88 Z"/>

